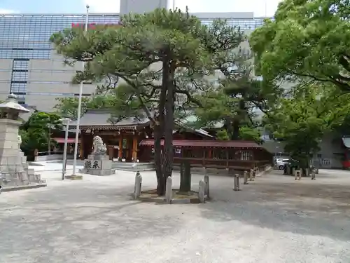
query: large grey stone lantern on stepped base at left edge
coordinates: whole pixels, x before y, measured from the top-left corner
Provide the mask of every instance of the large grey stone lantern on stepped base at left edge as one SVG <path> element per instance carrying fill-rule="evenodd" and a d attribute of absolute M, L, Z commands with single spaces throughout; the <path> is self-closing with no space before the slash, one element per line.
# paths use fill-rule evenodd
<path fill-rule="evenodd" d="M 28 169 L 27 157 L 20 149 L 22 142 L 18 128 L 22 124 L 20 113 L 28 109 L 17 102 L 17 97 L 8 95 L 5 102 L 0 104 L 0 174 L 2 174 L 2 190 L 17 190 L 46 186 L 35 175 L 33 169 Z M 0 179 L 1 180 L 1 179 Z M 35 186 L 34 186 L 35 184 Z"/>

